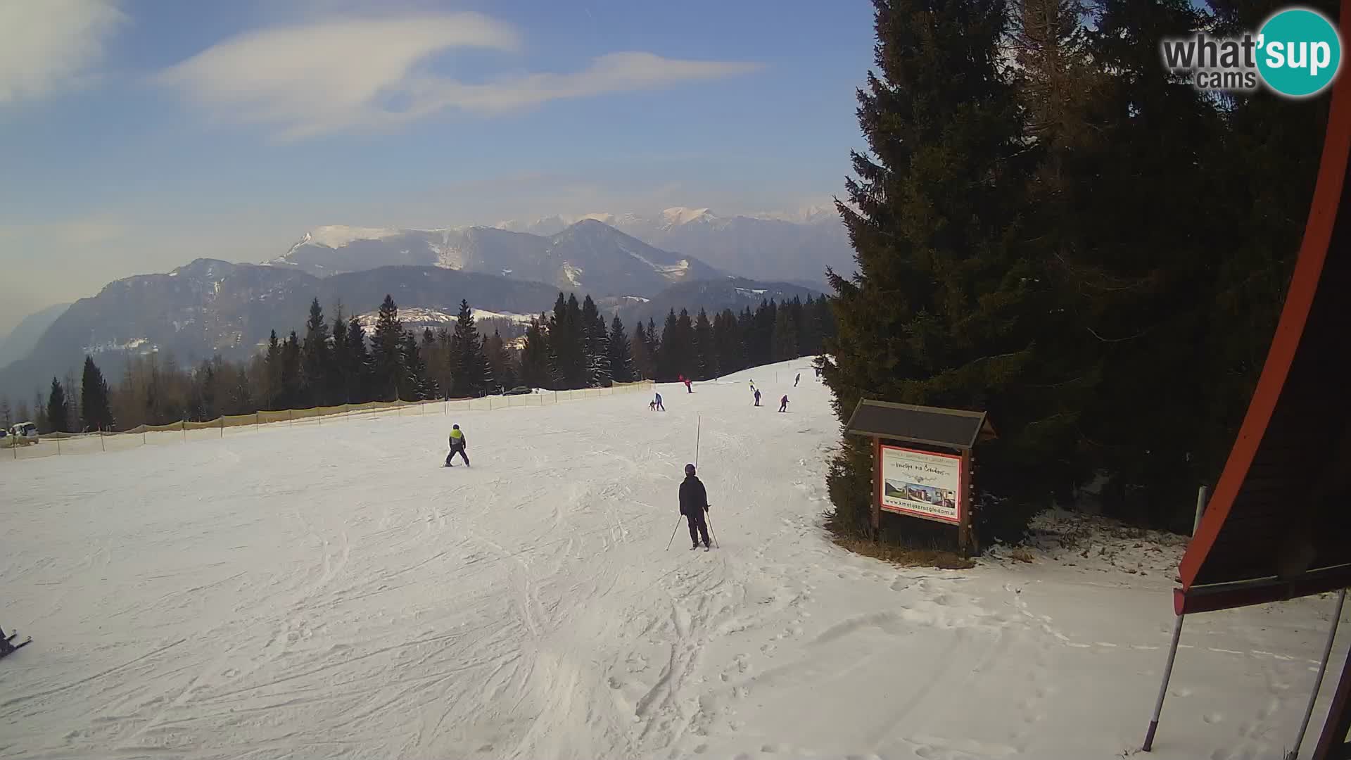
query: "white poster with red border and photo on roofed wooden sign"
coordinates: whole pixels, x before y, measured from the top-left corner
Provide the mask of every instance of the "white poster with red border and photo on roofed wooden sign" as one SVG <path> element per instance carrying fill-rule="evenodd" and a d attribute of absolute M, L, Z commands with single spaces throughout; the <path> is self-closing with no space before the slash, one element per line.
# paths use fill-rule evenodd
<path fill-rule="evenodd" d="M 881 507 L 962 523 L 962 457 L 882 446 Z"/>

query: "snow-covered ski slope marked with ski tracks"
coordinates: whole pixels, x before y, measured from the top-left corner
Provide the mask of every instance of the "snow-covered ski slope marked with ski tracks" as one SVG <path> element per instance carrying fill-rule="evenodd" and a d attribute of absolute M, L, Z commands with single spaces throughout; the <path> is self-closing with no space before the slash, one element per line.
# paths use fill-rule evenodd
<path fill-rule="evenodd" d="M 34 637 L 0 663 L 0 756 L 1139 746 L 1179 541 L 896 569 L 820 529 L 839 427 L 807 361 L 661 392 L 0 462 L 0 625 Z M 700 414 L 721 548 L 666 552 Z M 451 422 L 473 468 L 440 467 Z M 1189 619 L 1152 757 L 1289 746 L 1331 606 Z"/>

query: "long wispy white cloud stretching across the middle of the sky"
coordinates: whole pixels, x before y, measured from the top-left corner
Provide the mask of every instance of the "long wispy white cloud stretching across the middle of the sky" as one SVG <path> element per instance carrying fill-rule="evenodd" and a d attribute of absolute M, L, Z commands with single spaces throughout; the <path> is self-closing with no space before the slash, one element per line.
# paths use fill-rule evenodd
<path fill-rule="evenodd" d="M 515 28 L 481 14 L 340 19 L 251 31 L 159 74 L 223 120 L 295 139 L 376 128 L 444 110 L 500 114 L 562 97 L 650 89 L 755 70 L 755 64 L 611 53 L 576 73 L 465 82 L 427 64 L 447 50 L 520 49 Z"/>

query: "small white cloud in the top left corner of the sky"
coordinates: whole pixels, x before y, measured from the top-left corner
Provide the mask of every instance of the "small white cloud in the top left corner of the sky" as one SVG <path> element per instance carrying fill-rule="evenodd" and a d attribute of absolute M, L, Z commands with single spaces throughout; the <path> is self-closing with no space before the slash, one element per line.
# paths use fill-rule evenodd
<path fill-rule="evenodd" d="M 78 82 L 126 19 L 113 0 L 0 1 L 0 104 Z"/>

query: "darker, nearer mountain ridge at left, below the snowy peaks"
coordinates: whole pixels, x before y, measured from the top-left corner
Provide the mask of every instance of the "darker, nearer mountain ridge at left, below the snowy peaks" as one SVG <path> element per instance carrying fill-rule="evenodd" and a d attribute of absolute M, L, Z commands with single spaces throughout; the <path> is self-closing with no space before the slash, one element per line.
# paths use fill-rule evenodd
<path fill-rule="evenodd" d="M 0 369 L 0 389 L 27 398 L 53 376 L 78 369 L 85 354 L 109 380 L 120 376 L 127 358 L 151 352 L 172 353 L 180 364 L 215 353 L 242 358 L 272 330 L 303 330 L 315 298 L 326 311 L 350 304 L 351 314 L 380 306 L 385 293 L 399 304 L 451 314 L 461 299 L 490 311 L 539 314 L 558 288 L 435 266 L 380 266 L 320 279 L 290 268 L 199 258 L 166 275 L 109 283 L 70 304 L 27 357 Z"/>

